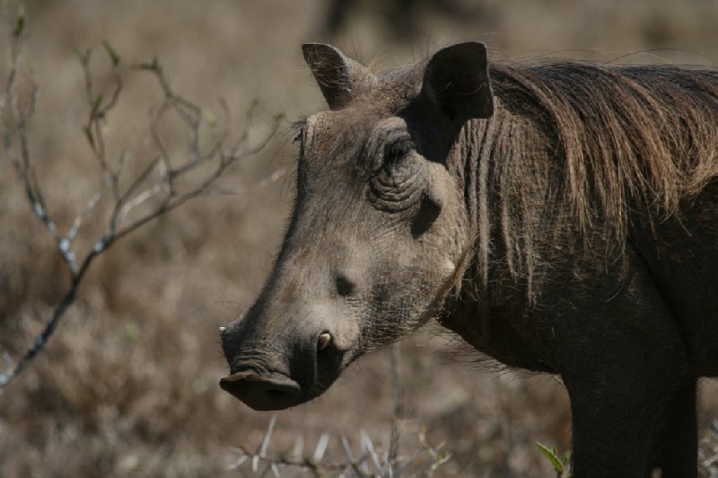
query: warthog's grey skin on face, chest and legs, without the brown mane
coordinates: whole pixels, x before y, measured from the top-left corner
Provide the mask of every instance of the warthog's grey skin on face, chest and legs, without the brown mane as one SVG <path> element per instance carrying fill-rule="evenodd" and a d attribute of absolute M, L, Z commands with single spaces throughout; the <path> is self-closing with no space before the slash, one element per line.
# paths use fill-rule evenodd
<path fill-rule="evenodd" d="M 302 126 L 293 217 L 267 286 L 222 332 L 223 389 L 255 410 L 307 402 L 366 351 L 438 317 L 508 367 L 561 376 L 574 476 L 696 476 L 696 380 L 718 375 L 715 181 L 680 222 L 632 220 L 618 248 L 602 230 L 578 247 L 573 226 L 535 237 L 553 253 L 534 285 L 482 272 L 456 144 L 501 107 L 484 45 L 440 50 L 416 82 L 303 49 L 329 111 Z M 526 191 L 539 218 L 540 189 Z"/>

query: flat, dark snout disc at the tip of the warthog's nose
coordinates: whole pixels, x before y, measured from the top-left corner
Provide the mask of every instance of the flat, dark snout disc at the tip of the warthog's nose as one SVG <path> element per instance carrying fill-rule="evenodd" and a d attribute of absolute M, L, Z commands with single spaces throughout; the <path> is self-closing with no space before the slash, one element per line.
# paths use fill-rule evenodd
<path fill-rule="evenodd" d="M 284 410 L 304 402 L 302 388 L 283 374 L 260 376 L 245 370 L 225 376 L 219 386 L 258 412 Z"/>

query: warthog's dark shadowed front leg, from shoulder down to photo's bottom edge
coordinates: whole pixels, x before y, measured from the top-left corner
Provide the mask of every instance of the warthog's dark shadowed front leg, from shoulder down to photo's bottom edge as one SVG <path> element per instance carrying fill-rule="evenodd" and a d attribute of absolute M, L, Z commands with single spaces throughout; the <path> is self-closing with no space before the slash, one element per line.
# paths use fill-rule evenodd
<path fill-rule="evenodd" d="M 621 292 L 565 317 L 558 348 L 571 397 L 573 470 L 696 476 L 695 380 L 675 320 L 640 261 Z"/>

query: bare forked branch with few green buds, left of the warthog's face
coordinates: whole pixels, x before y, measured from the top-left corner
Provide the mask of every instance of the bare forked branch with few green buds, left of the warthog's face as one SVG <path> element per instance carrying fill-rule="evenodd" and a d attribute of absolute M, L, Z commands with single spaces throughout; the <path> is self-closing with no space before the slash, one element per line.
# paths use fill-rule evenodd
<path fill-rule="evenodd" d="M 266 136 L 258 145 L 250 147 L 247 146 L 248 130 L 251 124 L 248 114 L 240 139 L 228 146 L 231 114 L 225 102 L 220 102 L 224 114 L 223 128 L 220 128 L 213 116 L 203 117 L 202 110 L 197 105 L 188 102 L 171 88 L 170 82 L 156 58 L 151 63 L 137 65 L 133 68 L 133 73 L 150 73 L 162 88 L 162 104 L 156 111 L 150 112 L 151 137 L 158 154 L 140 173 L 129 179 L 127 186 L 123 187 L 122 183 L 127 182 L 127 178 L 123 176 L 125 166 L 136 158 L 140 148 L 130 154 L 123 151 L 118 155 L 118 160 L 112 164 L 109 160 L 103 128 L 111 111 L 118 104 L 123 91 L 123 81 L 119 70 L 120 57 L 108 42 L 103 42 L 102 45 L 111 64 L 114 83 L 109 95 L 105 96 L 96 91 L 93 82 L 90 70 L 92 50 L 79 52 L 78 58 L 83 68 L 85 97 L 88 105 L 88 117 L 83 126 L 83 133 L 93 157 L 100 165 L 101 181 L 99 189 L 86 202 L 83 210 L 74 218 L 66 233 L 63 234 L 50 214 L 35 173 L 35 164 L 31 158 L 28 124 L 35 113 L 39 88 L 31 68 L 21 59 L 24 28 L 25 14 L 21 9 L 16 15 L 11 29 L 10 73 L 7 75 L 4 92 L 0 95 L 0 135 L 2 135 L 4 153 L 22 182 L 34 216 L 48 229 L 56 242 L 57 252 L 69 270 L 70 285 L 64 297 L 53 310 L 43 331 L 39 333 L 22 357 L 13 363 L 13 360 L 6 353 L 4 354 L 7 369 L 4 373 L 0 373 L 0 392 L 48 343 L 67 308 L 73 304 L 77 289 L 97 256 L 107 251 L 110 245 L 125 235 L 172 209 L 179 208 L 189 199 L 213 193 L 212 187 L 215 181 L 225 173 L 227 168 L 241 159 L 257 155 L 274 137 L 281 120 L 283 120 L 281 115 L 276 115 Z M 162 119 L 170 113 L 174 113 L 180 118 L 188 139 L 187 158 L 178 165 L 171 163 L 159 132 Z M 200 129 L 203 128 L 203 125 L 211 131 L 208 148 L 200 147 Z M 280 175 L 272 174 L 270 178 L 262 181 L 262 184 L 266 185 L 276 181 Z M 120 181 L 122 178 L 125 178 L 125 181 Z M 178 185 L 180 180 L 191 181 L 194 185 L 185 186 L 182 189 Z M 91 241 L 93 245 L 90 250 L 78 254 L 74 240 L 90 217 L 101 221 L 97 209 L 108 189 L 111 190 L 112 201 L 107 224 L 104 226 L 103 232 Z"/>

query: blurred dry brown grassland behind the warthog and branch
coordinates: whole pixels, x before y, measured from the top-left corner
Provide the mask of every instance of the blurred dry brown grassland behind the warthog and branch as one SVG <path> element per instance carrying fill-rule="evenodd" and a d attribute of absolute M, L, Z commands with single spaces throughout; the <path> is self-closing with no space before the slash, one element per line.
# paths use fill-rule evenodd
<path fill-rule="evenodd" d="M 16 4 L 3 4 L 12 16 Z M 94 50 L 100 89 L 112 84 L 101 41 L 122 58 L 125 88 L 105 122 L 110 158 L 147 142 L 147 111 L 162 93 L 150 75 L 129 65 L 154 56 L 189 101 L 220 111 L 223 98 L 237 134 L 256 99 L 250 143 L 267 133 L 276 113 L 287 120 L 267 148 L 224 176 L 221 186 L 237 193 L 197 199 L 93 264 L 47 349 L 0 395 L 0 475 L 6 477 L 248 475 L 246 467 L 231 469 L 232 447 L 258 447 L 273 413 L 253 412 L 219 389 L 227 367 L 217 327 L 251 304 L 281 241 L 293 175 L 264 180 L 293 169 L 289 121 L 325 107 L 302 61 L 303 41 L 331 42 L 377 69 L 467 39 L 486 41 L 504 58 L 712 66 L 718 45 L 714 0 L 37 0 L 26 11 L 22 57 L 39 84 L 31 154 L 61 227 L 99 184 L 83 137 L 88 105 L 78 49 Z M 3 81 L 9 34 L 0 28 Z M 165 134 L 176 135 L 173 148 L 181 152 L 178 130 Z M 67 277 L 4 157 L 0 191 L 0 346 L 16 358 L 57 304 Z M 443 442 L 452 455 L 439 476 L 553 473 L 534 442 L 570 447 L 568 401 L 555 379 L 487 365 L 436 326 L 403 341 L 400 350 L 407 414 L 401 451 L 411 451 L 410 439 L 423 427 L 429 443 Z M 313 447 L 326 432 L 328 453 L 338 459 L 338 437 L 358 447 L 360 430 L 386 449 L 390 385 L 388 351 L 364 357 L 320 399 L 274 414 L 270 452 L 291 449 L 298 437 Z M 716 447 L 707 431 L 718 416 L 716 390 L 706 383 L 701 394 L 705 458 Z"/>

